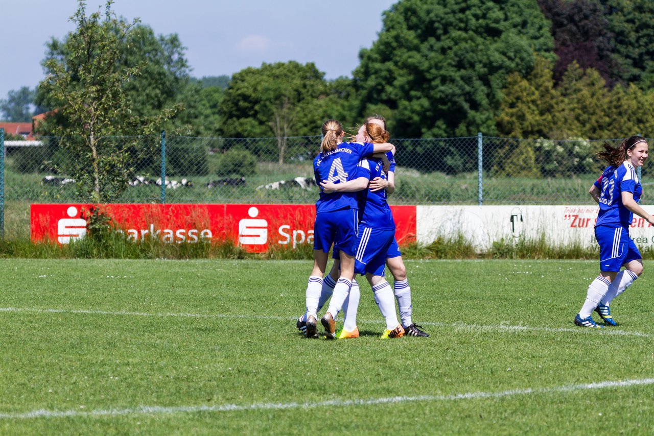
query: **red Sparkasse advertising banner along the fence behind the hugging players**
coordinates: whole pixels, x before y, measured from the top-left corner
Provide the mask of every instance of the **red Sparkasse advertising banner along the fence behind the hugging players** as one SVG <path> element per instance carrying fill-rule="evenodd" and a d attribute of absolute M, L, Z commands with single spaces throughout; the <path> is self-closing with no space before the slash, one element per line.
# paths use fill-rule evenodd
<path fill-rule="evenodd" d="M 313 205 L 46 204 L 31 205 L 33 241 L 68 244 L 86 235 L 92 208 L 111 216 L 128 241 L 157 238 L 164 243 L 233 241 L 247 251 L 270 246 L 296 248 L 313 243 Z M 392 206 L 398 243 L 415 241 L 415 206 Z"/>

